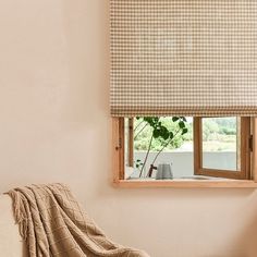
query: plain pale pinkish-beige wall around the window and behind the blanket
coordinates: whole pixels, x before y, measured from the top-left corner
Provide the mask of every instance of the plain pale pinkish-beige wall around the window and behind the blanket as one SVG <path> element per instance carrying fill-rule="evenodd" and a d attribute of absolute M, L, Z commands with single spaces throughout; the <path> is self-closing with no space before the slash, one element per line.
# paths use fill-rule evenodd
<path fill-rule="evenodd" d="M 255 257 L 253 189 L 111 186 L 108 28 L 108 0 L 0 2 L 0 191 L 64 182 L 152 257 Z"/>

